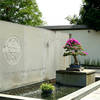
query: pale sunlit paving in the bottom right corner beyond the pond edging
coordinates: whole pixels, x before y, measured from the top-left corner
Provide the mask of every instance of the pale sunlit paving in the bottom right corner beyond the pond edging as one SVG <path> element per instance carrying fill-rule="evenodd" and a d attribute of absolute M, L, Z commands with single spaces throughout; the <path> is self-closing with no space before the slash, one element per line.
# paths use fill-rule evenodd
<path fill-rule="evenodd" d="M 83 97 L 81 100 L 100 100 L 100 88 Z"/>

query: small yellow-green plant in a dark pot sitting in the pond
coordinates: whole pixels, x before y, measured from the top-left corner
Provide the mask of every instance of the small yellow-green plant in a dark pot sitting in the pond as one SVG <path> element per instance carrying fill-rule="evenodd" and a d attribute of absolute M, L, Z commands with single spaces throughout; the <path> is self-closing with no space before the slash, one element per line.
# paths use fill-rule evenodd
<path fill-rule="evenodd" d="M 40 89 L 43 94 L 51 94 L 55 87 L 50 83 L 42 83 Z"/>

